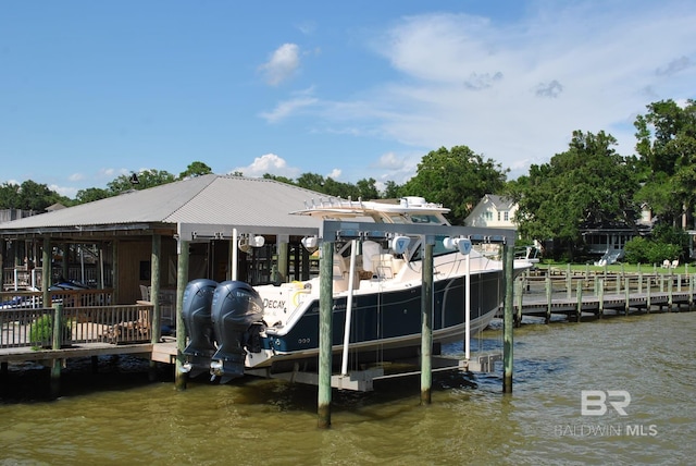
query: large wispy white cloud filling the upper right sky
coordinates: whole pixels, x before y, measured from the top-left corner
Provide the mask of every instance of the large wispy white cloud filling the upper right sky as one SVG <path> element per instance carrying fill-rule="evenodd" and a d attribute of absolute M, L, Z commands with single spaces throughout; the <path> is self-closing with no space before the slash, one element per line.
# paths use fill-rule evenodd
<path fill-rule="evenodd" d="M 276 121 L 303 108 L 326 132 L 399 142 L 421 157 L 467 145 L 515 177 L 567 150 L 574 130 L 610 133 L 618 151 L 631 155 L 636 114 L 656 100 L 693 97 L 696 10 L 687 4 L 530 8 L 515 23 L 403 17 L 371 42 L 397 78 L 356 90 L 355 100 L 290 100 L 265 116 Z M 374 168 L 397 159 L 385 155 Z"/>

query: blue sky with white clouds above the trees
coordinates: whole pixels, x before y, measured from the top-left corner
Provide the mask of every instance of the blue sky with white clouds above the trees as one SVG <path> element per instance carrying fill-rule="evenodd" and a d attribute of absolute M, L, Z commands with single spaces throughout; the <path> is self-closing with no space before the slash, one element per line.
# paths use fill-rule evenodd
<path fill-rule="evenodd" d="M 4 1 L 0 183 L 142 169 L 403 183 L 465 145 L 527 173 L 695 98 L 693 1 Z"/>

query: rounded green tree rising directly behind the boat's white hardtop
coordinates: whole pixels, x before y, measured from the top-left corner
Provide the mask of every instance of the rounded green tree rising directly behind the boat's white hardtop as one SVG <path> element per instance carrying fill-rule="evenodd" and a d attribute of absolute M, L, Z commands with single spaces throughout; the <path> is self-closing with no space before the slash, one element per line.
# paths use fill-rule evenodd
<path fill-rule="evenodd" d="M 449 220 L 458 225 L 484 195 L 499 193 L 505 187 L 507 172 L 499 163 L 484 160 L 467 146 L 455 146 L 451 150 L 440 147 L 423 157 L 415 176 L 400 191 L 403 195 L 422 196 L 448 207 L 451 209 Z"/>

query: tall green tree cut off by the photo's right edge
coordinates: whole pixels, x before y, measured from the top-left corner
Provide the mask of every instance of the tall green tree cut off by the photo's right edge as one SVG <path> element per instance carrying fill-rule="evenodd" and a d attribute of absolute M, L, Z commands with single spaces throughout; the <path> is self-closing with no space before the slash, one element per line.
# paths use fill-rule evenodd
<path fill-rule="evenodd" d="M 647 106 L 634 122 L 636 151 L 643 168 L 645 201 L 662 221 L 680 225 L 682 214 L 693 223 L 696 206 L 696 102 L 679 106 L 662 100 Z"/>

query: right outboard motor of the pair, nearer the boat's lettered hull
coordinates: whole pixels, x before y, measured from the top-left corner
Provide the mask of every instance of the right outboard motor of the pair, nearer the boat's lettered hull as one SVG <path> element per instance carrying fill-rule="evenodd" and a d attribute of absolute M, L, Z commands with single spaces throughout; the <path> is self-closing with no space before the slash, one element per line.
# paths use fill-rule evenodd
<path fill-rule="evenodd" d="M 263 329 L 263 301 L 248 283 L 222 282 L 213 294 L 211 318 L 217 353 L 212 357 L 210 371 L 222 378 L 221 383 L 226 383 L 244 376 L 247 351 L 261 351 L 259 332 Z"/>

